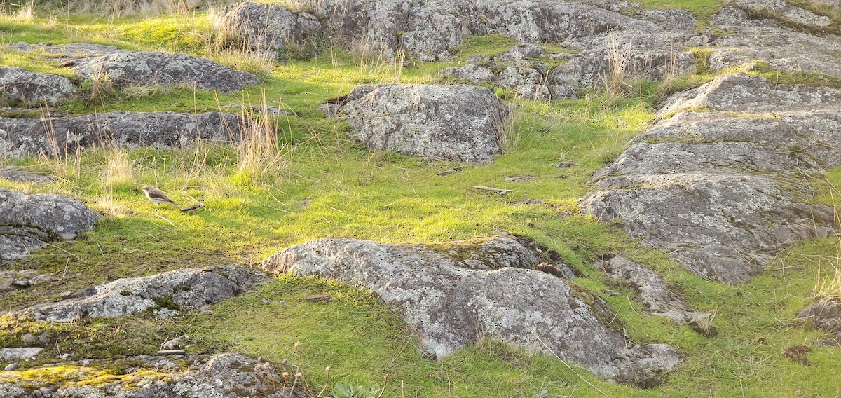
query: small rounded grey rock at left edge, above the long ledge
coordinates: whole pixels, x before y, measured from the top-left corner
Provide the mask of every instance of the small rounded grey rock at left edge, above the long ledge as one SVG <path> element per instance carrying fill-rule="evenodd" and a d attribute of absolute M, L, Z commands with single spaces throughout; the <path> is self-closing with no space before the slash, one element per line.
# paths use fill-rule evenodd
<path fill-rule="evenodd" d="M 0 66 L 0 98 L 29 105 L 55 105 L 76 93 L 66 77 L 29 72 L 23 68 Z"/>

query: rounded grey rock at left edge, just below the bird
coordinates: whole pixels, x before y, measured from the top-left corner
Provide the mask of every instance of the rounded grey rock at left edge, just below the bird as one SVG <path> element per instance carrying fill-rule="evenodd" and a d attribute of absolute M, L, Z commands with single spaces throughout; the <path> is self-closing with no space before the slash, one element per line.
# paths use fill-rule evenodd
<path fill-rule="evenodd" d="M 24 257 L 47 241 L 73 239 L 98 218 L 76 199 L 0 188 L 0 263 Z"/>

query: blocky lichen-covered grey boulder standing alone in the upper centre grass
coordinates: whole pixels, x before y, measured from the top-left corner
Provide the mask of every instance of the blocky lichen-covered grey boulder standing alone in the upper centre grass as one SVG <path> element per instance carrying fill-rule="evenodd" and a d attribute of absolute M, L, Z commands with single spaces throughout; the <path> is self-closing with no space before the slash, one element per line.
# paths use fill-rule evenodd
<path fill-rule="evenodd" d="M 493 161 L 508 116 L 487 88 L 464 85 L 360 86 L 341 112 L 368 148 L 459 162 Z"/>

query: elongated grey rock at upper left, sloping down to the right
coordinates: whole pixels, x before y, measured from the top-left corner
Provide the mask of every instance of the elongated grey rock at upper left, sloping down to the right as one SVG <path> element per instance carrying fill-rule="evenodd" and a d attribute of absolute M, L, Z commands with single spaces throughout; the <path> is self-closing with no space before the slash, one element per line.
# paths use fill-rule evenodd
<path fill-rule="evenodd" d="M 130 51 L 91 43 L 13 43 L 8 47 L 21 51 L 44 51 L 61 61 L 62 66 L 71 66 L 71 70 L 79 76 L 112 82 L 118 88 L 128 85 L 181 85 L 229 93 L 262 82 L 251 73 L 181 53 Z"/>

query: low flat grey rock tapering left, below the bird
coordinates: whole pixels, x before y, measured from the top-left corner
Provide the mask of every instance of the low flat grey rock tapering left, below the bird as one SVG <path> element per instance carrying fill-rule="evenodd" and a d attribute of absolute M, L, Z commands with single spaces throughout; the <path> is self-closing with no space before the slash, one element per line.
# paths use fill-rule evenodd
<path fill-rule="evenodd" d="M 141 278 L 117 279 L 56 303 L 33 305 L 11 313 L 36 320 L 69 322 L 80 317 L 126 316 L 145 310 L 203 309 L 241 295 L 266 275 L 241 266 L 186 268 Z M 177 312 L 175 312 L 177 313 Z"/>

